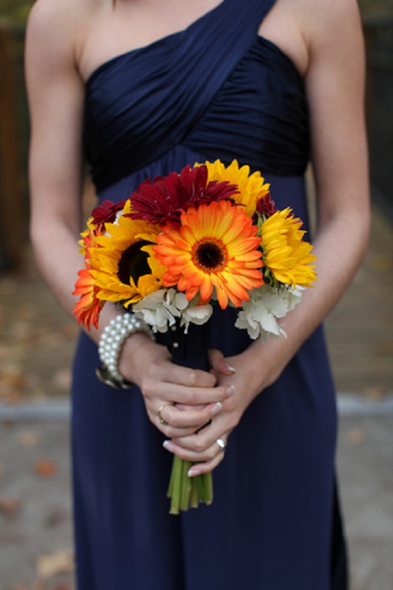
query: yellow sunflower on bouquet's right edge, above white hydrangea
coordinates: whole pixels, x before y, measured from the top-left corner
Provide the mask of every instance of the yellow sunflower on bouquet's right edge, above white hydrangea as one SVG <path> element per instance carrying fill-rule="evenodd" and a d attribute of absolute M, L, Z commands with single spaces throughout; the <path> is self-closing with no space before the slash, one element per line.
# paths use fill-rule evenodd
<path fill-rule="evenodd" d="M 261 225 L 263 262 L 275 280 L 309 287 L 316 280 L 315 266 L 310 266 L 316 257 L 310 253 L 311 244 L 303 241 L 302 220 L 291 211 L 289 207 L 276 211 Z"/>

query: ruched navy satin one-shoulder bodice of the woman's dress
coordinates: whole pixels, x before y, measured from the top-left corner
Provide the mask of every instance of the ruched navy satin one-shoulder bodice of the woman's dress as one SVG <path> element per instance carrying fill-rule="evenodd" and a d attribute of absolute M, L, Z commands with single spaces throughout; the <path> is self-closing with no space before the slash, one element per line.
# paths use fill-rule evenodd
<path fill-rule="evenodd" d="M 264 173 L 304 172 L 304 84 L 291 60 L 258 36 L 272 1 L 253 1 L 249 11 L 223 0 L 184 31 L 91 74 L 84 139 L 98 191 L 179 145 Z"/>

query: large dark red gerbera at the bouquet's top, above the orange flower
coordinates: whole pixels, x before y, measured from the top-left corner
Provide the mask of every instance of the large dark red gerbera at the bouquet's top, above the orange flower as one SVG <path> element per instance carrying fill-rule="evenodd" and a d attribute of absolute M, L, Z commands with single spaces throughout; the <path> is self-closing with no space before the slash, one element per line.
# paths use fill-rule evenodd
<path fill-rule="evenodd" d="M 191 206 L 231 199 L 236 192 L 237 186 L 227 181 L 208 183 L 205 165 L 195 168 L 187 165 L 180 174 L 171 172 L 169 176 L 157 176 L 151 183 L 141 183 L 130 196 L 132 213 L 127 213 L 125 217 L 160 225 L 178 223 L 181 213 Z"/>

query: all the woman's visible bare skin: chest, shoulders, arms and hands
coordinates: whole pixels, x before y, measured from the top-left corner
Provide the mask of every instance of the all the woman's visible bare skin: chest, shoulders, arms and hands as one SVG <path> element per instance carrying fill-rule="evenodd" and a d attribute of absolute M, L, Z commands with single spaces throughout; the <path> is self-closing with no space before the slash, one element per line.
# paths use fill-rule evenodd
<path fill-rule="evenodd" d="M 116 0 L 113 6 L 111 0 L 37 0 L 31 11 L 26 36 L 31 241 L 40 271 L 70 313 L 81 267 L 84 82 L 100 63 L 184 29 L 217 3 Z M 277 0 L 259 33 L 279 45 L 305 78 L 318 209 L 318 283 L 286 317 L 288 338 L 268 345 L 256 341 L 231 358 L 210 351 L 210 373 L 173 365 L 167 349 L 143 334 L 125 342 L 119 368 L 141 388 L 149 418 L 168 439 L 167 450 L 198 462 L 190 475 L 211 471 L 223 459 L 215 441 L 227 441 L 247 406 L 279 377 L 337 303 L 369 234 L 364 48 L 356 0 Z M 100 329 L 90 333 L 95 342 L 116 313 L 105 306 Z M 157 416 L 162 406 L 167 425 Z"/>

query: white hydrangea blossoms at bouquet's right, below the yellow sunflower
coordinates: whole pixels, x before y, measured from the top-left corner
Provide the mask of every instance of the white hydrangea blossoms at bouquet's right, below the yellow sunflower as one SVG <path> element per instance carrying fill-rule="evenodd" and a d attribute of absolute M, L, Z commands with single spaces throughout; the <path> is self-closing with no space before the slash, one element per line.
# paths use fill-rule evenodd
<path fill-rule="evenodd" d="M 267 342 L 270 335 L 286 336 L 277 319 L 284 317 L 300 302 L 302 288 L 278 289 L 262 285 L 250 293 L 249 301 L 242 303 L 242 310 L 236 319 L 236 328 L 245 329 L 253 340 L 261 338 Z"/>

